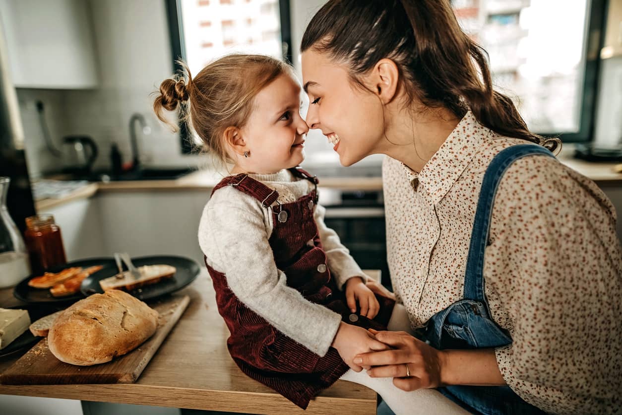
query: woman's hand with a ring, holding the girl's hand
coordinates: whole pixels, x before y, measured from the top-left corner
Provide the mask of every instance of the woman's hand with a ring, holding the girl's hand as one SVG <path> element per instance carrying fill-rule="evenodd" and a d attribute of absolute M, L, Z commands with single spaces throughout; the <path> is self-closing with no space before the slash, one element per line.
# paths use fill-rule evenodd
<path fill-rule="evenodd" d="M 444 352 L 406 332 L 377 332 L 373 329 L 369 332 L 376 336 L 376 340 L 392 347 L 392 350 L 364 353 L 353 359 L 355 365 L 371 366 L 367 372 L 369 376 L 394 378 L 393 384 L 404 391 L 441 386 Z"/>

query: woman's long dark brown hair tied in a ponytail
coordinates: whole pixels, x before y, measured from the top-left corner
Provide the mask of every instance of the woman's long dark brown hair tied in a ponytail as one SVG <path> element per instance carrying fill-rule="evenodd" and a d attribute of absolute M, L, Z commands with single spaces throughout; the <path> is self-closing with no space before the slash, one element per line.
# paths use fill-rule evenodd
<path fill-rule="evenodd" d="M 487 54 L 460 29 L 448 0 L 330 0 L 307 26 L 301 52 L 327 53 L 355 83 L 382 58 L 393 60 L 410 102 L 470 109 L 494 132 L 555 151 L 559 139 L 531 133 L 508 96 L 493 90 Z"/>

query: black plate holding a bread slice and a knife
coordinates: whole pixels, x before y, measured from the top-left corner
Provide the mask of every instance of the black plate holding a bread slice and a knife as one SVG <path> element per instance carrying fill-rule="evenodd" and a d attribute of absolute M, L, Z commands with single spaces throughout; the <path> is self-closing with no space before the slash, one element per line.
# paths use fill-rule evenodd
<path fill-rule="evenodd" d="M 129 294 L 132 294 L 132 296 L 139 300 L 156 298 L 182 289 L 190 284 L 190 282 L 194 281 L 200 271 L 199 266 L 195 261 L 189 258 L 183 258 L 183 256 L 142 256 L 140 258 L 132 258 L 132 263 L 134 263 L 134 266 L 136 267 L 143 265 L 165 264 L 174 266 L 177 269 L 177 271 L 175 271 L 175 275 L 171 278 L 166 278 L 156 284 L 142 286 L 129 291 Z M 100 287 L 100 280 L 114 276 L 117 273 L 118 269 L 113 263 L 111 266 L 106 266 L 103 269 L 100 269 L 100 271 L 86 277 L 85 280 L 82 281 L 82 294 L 90 296 L 91 294 L 104 292 Z"/>

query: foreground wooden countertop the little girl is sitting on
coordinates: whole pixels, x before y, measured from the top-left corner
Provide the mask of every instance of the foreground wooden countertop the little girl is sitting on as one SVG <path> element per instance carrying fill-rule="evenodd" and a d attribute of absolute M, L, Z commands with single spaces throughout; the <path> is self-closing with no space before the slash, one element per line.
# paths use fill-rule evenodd
<path fill-rule="evenodd" d="M 366 273 L 377 277 L 379 271 Z M 12 289 L 0 290 L 0 307 L 19 304 L 11 301 L 11 292 Z M 376 414 L 376 393 L 355 383 L 337 381 L 302 411 L 272 389 L 248 378 L 226 348 L 229 332 L 218 314 L 207 271 L 203 270 L 180 294 L 190 296 L 190 305 L 136 383 L 0 385 L 0 394 L 253 414 Z M 0 358 L 0 373 L 23 353 Z"/>

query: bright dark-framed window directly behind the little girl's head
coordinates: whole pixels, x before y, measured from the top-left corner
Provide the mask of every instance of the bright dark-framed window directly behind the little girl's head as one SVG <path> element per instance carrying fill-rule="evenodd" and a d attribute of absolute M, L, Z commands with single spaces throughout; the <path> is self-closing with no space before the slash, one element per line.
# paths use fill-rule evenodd
<path fill-rule="evenodd" d="M 289 0 L 166 0 L 174 60 L 193 74 L 231 52 L 291 62 Z M 174 62 L 174 70 L 180 66 Z M 183 152 L 199 141 L 180 125 Z"/>

